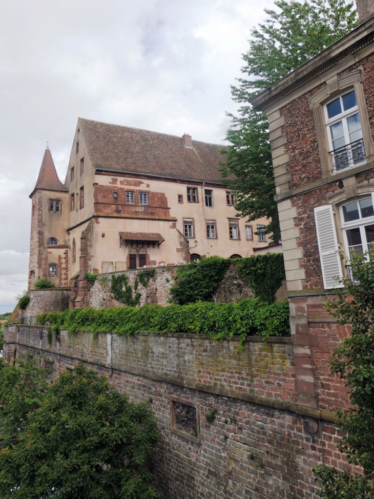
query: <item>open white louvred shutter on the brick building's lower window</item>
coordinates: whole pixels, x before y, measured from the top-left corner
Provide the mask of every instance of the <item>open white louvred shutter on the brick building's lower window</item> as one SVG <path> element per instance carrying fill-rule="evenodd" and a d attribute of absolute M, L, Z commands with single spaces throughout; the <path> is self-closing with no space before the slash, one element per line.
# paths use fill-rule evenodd
<path fill-rule="evenodd" d="M 342 288 L 336 277 L 341 278 L 342 266 L 339 256 L 338 240 L 334 223 L 333 207 L 318 206 L 314 209 L 318 249 L 322 267 L 323 285 L 325 289 Z"/>

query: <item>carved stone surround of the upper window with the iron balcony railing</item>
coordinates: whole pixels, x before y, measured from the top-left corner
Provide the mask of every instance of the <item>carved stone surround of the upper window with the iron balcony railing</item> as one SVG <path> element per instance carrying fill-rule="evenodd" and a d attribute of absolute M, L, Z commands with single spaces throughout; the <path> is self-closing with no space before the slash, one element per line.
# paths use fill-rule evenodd
<path fill-rule="evenodd" d="M 355 89 L 357 106 L 360 113 L 362 134 L 364 139 L 364 146 L 366 152 L 366 162 L 368 163 L 373 159 L 374 144 L 370 133 L 371 127 L 369 116 L 367 113 L 367 106 L 365 102 L 365 95 L 362 86 L 363 70 L 362 68 L 350 71 L 349 73 L 338 76 L 335 74 L 332 78 L 326 81 L 326 84 L 317 92 L 309 97 L 309 107 L 313 110 L 314 121 L 316 126 L 316 135 L 318 150 L 320 153 L 320 161 L 322 168 L 322 177 L 328 177 L 333 173 L 333 165 L 329 154 L 329 142 L 327 129 L 325 125 L 325 115 L 323 106 L 331 98 L 340 95 L 341 93 L 351 89 Z M 337 172 L 339 175 L 341 172 Z"/>

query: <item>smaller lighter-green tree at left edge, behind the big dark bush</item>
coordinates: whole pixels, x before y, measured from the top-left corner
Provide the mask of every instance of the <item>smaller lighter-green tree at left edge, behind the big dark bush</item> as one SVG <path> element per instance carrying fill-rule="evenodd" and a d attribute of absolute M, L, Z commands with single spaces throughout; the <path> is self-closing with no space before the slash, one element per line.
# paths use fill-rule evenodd
<path fill-rule="evenodd" d="M 48 374 L 32 356 L 13 366 L 0 358 L 0 401 L 8 402 L 0 409 L 0 440 L 9 443 L 27 426 L 29 412 L 40 406 L 47 389 Z"/>

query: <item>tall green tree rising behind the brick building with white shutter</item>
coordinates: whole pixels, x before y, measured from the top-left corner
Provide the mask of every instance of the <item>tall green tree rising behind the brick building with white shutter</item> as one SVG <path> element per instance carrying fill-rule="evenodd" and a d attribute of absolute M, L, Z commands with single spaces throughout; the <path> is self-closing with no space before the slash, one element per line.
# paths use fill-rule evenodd
<path fill-rule="evenodd" d="M 221 174 L 237 195 L 236 209 L 248 221 L 272 218 L 265 233 L 280 239 L 275 183 L 267 119 L 249 101 L 260 91 L 305 63 L 358 24 L 353 2 L 310 0 L 275 2 L 277 10 L 265 9 L 268 18 L 251 31 L 250 49 L 243 54 L 246 77 L 232 86 L 233 100 L 240 104 L 238 116 L 228 114 L 232 125 L 226 139 Z"/>

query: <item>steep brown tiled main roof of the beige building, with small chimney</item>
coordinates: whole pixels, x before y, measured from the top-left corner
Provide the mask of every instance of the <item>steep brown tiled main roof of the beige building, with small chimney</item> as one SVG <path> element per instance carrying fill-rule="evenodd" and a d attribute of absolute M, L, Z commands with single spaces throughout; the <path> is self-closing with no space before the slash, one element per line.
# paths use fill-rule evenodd
<path fill-rule="evenodd" d="M 96 169 L 221 183 L 217 172 L 223 145 L 79 118 L 92 165 Z"/>

